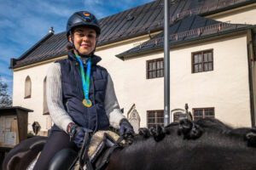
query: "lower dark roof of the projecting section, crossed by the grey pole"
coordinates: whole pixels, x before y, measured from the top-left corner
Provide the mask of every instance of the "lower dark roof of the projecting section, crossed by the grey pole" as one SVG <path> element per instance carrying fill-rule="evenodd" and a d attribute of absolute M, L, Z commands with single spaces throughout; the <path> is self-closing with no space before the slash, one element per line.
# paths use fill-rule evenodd
<path fill-rule="evenodd" d="M 204 37 L 212 37 L 224 33 L 230 33 L 230 31 L 241 31 L 241 29 L 247 29 L 250 27 L 252 26 L 224 23 L 192 14 L 183 18 L 183 20 L 178 20 L 177 23 L 170 26 L 170 43 L 172 45 L 181 42 L 188 42 Z M 124 53 L 117 54 L 116 56 L 120 59 L 124 59 L 125 56 L 163 47 L 164 32 L 161 32 L 151 40 L 139 43 L 137 44 L 137 47 L 131 48 Z"/>

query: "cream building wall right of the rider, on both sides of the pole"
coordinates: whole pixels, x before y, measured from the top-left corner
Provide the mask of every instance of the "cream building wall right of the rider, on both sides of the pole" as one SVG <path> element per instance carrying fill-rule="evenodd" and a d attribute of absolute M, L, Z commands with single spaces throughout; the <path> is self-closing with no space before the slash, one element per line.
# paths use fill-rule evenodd
<path fill-rule="evenodd" d="M 119 54 L 113 48 L 102 50 Z M 191 53 L 213 48 L 214 71 L 191 74 Z M 115 84 L 125 114 L 133 104 L 147 126 L 147 111 L 164 110 L 164 78 L 146 79 L 146 61 L 164 57 L 161 52 L 131 59 L 111 60 L 105 65 Z M 123 63 L 122 63 L 123 62 Z M 104 63 L 105 64 L 105 63 Z M 247 69 L 247 37 L 237 36 L 171 50 L 171 111 L 214 107 L 215 117 L 233 126 L 251 126 Z M 171 120 L 172 121 L 172 120 Z"/>

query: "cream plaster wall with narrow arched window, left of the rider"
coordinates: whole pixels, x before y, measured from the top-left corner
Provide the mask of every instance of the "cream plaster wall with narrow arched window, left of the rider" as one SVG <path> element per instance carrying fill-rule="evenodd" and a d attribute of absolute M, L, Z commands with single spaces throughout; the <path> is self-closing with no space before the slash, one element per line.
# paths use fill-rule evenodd
<path fill-rule="evenodd" d="M 47 116 L 43 115 L 44 78 L 50 64 L 38 65 L 20 71 L 14 71 L 13 105 L 31 109 L 28 113 L 28 131 L 32 131 L 32 123 L 39 122 L 41 131 L 47 131 Z M 29 76 L 32 81 L 32 95 L 29 99 L 25 96 L 25 80 Z"/>

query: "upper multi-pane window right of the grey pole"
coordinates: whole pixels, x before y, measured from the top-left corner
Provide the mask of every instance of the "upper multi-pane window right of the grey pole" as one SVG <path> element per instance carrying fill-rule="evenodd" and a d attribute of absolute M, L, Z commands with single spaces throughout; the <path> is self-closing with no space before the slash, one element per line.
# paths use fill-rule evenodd
<path fill-rule="evenodd" d="M 213 49 L 192 53 L 192 73 L 213 71 Z"/>

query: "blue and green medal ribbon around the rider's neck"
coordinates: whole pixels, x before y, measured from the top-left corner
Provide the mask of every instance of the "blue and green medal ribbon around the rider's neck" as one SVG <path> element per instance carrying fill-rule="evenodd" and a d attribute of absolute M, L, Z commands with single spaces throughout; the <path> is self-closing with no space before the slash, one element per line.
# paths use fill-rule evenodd
<path fill-rule="evenodd" d="M 86 71 L 86 80 L 85 80 L 83 62 L 77 54 L 75 55 L 76 55 L 76 58 L 79 59 L 79 63 L 80 63 L 81 77 L 82 77 L 83 88 L 84 88 L 84 99 L 86 99 L 86 102 L 89 103 L 90 67 L 91 67 L 90 57 L 87 62 L 87 71 Z"/>

